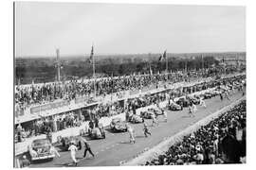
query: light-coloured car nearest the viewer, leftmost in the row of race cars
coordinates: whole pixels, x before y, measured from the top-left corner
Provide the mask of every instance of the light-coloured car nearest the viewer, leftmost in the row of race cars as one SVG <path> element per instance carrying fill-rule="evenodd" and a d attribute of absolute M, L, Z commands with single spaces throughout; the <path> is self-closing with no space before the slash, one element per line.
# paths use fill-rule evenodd
<path fill-rule="evenodd" d="M 31 161 L 52 161 L 55 155 L 51 151 L 51 147 L 52 145 L 50 144 L 48 139 L 37 139 L 32 141 L 32 143 L 28 145 L 28 153 L 31 157 Z"/>

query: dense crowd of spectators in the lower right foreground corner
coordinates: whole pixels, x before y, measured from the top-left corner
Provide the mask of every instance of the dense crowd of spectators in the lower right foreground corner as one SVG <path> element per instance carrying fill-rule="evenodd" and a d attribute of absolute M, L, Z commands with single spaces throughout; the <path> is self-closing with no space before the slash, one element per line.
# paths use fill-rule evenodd
<path fill-rule="evenodd" d="M 245 162 L 246 118 L 244 100 L 146 165 Z"/>

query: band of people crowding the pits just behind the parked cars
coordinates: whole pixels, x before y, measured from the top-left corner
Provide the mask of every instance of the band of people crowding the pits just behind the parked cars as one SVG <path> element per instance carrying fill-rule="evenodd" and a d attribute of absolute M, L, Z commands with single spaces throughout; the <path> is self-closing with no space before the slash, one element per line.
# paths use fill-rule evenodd
<path fill-rule="evenodd" d="M 100 103 L 92 106 L 87 110 L 73 110 L 56 114 L 52 116 L 42 117 L 29 123 L 29 126 L 22 127 L 20 124 L 16 127 L 16 141 L 22 142 L 27 137 L 36 136 L 42 133 L 56 132 L 68 127 L 79 127 L 84 121 L 90 121 L 101 117 L 110 117 L 120 114 L 122 112 L 127 115 L 136 114 L 137 109 L 147 107 L 153 104 L 180 97 L 183 94 L 195 93 L 198 91 L 206 90 L 221 84 L 231 85 L 235 82 L 242 82 L 245 76 L 233 76 L 222 78 L 218 81 L 210 80 L 209 82 L 197 83 L 192 86 L 183 87 L 179 89 L 169 89 L 160 93 L 145 94 L 139 97 L 130 98 L 126 104 L 120 101 L 114 103 Z M 123 101 L 124 102 L 124 101 Z"/>

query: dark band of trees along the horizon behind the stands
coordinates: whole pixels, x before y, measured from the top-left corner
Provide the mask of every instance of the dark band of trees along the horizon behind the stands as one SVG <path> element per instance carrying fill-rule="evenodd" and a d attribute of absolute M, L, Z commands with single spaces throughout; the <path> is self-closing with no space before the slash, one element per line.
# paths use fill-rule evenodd
<path fill-rule="evenodd" d="M 87 59 L 62 59 L 61 76 L 63 79 L 91 77 L 92 64 Z M 214 56 L 201 56 L 193 58 L 168 58 L 168 71 L 180 71 L 186 67 L 188 70 L 198 70 L 202 67 L 209 68 L 218 64 Z M 15 76 L 16 84 L 29 84 L 50 82 L 56 80 L 57 68 L 54 59 L 16 59 Z M 158 57 L 152 58 L 96 58 L 97 76 L 123 76 L 131 74 L 150 74 L 166 70 L 166 61 L 159 61 Z"/>

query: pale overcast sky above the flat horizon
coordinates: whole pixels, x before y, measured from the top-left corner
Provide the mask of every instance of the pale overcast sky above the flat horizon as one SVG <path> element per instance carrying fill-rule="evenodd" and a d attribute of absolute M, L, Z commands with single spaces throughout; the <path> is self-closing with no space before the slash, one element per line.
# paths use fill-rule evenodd
<path fill-rule="evenodd" d="M 16 56 L 246 51 L 246 8 L 16 3 Z"/>

